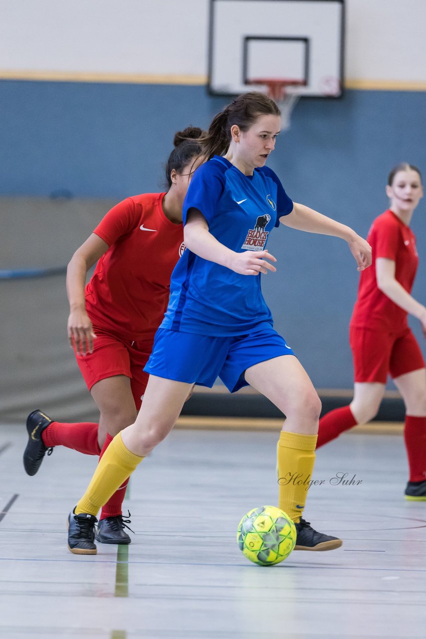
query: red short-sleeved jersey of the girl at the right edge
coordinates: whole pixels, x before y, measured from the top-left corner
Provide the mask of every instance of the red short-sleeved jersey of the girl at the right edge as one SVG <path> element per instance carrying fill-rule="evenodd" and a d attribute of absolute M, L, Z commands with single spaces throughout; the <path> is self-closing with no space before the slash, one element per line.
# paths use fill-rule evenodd
<path fill-rule="evenodd" d="M 374 220 L 367 241 L 372 247 L 372 265 L 361 272 L 351 325 L 399 332 L 407 326 L 407 312 L 377 288 L 376 259 L 392 259 L 395 279 L 411 293 L 418 266 L 416 237 L 409 226 L 388 210 Z"/>

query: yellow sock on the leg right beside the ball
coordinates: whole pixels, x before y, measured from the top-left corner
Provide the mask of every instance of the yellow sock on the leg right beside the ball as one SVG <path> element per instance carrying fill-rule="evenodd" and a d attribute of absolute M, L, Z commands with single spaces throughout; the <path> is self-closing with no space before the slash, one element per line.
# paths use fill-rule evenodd
<path fill-rule="evenodd" d="M 315 463 L 317 435 L 281 431 L 278 441 L 278 505 L 293 521 L 299 521 Z"/>

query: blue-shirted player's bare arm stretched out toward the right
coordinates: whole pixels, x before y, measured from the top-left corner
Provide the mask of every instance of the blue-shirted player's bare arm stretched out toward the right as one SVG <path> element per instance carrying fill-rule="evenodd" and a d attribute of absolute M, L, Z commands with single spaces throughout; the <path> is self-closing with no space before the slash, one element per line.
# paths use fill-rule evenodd
<path fill-rule="evenodd" d="M 295 202 L 293 211 L 289 215 L 280 217 L 280 222 L 299 231 L 331 235 L 346 240 L 358 265 L 358 271 L 363 271 L 371 265 L 371 247 L 366 240 L 346 224 L 340 224 L 340 222 L 314 211 L 313 208 L 309 208 L 305 204 Z"/>

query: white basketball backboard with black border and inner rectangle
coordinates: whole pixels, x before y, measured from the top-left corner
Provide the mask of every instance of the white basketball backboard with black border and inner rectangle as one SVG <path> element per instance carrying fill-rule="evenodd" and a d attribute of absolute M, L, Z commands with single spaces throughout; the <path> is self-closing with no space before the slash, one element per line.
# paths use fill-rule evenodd
<path fill-rule="evenodd" d="M 301 97 L 342 95 L 344 0 L 210 0 L 208 89 L 266 90 L 294 80 Z"/>

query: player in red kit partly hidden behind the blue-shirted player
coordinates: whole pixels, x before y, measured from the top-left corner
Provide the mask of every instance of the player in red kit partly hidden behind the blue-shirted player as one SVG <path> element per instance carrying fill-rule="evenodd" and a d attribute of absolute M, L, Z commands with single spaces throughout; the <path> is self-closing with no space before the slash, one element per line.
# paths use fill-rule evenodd
<path fill-rule="evenodd" d="M 148 381 L 143 369 L 167 308 L 171 273 L 185 250 L 182 205 L 201 151 L 201 134 L 200 128 L 188 127 L 174 136 L 165 169 L 167 193 L 126 198 L 73 255 L 66 276 L 68 338 L 100 420 L 64 424 L 33 411 L 24 452 L 29 475 L 38 471 L 46 450 L 57 445 L 102 457 L 114 435 L 135 421 Z M 87 271 L 96 261 L 85 288 Z M 121 512 L 126 484 L 102 509 L 98 541 L 130 543 Z"/>

